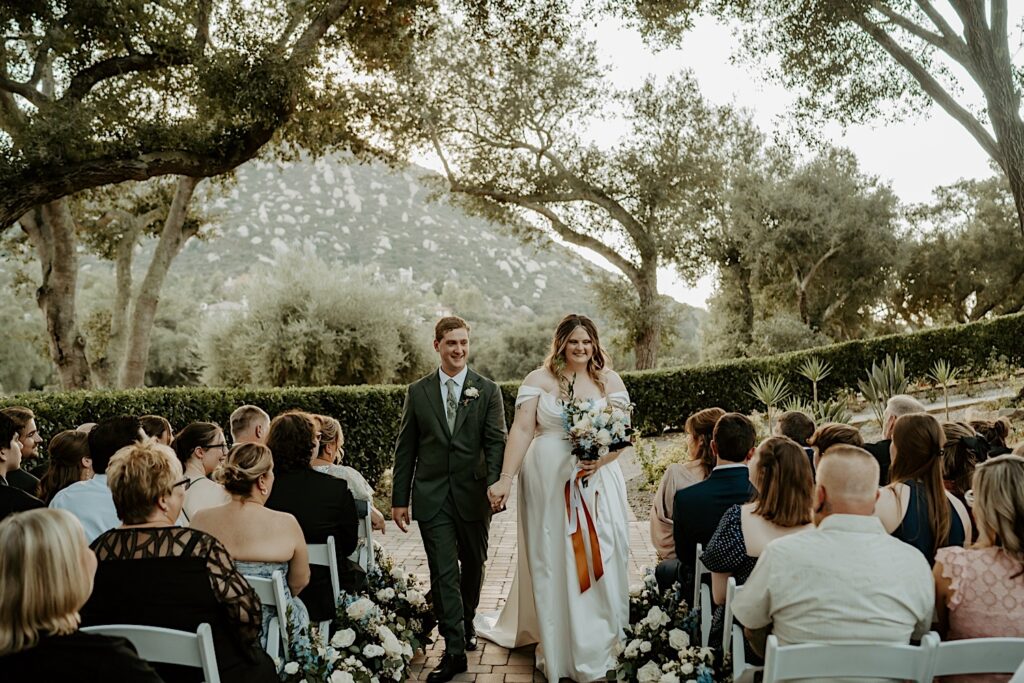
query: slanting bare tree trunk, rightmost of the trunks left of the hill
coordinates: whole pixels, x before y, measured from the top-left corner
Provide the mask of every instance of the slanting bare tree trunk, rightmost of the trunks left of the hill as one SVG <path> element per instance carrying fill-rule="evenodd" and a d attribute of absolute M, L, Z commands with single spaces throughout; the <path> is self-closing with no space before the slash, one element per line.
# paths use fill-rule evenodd
<path fill-rule="evenodd" d="M 171 262 L 181 252 L 188 238 L 195 234 L 195 229 L 184 229 L 185 218 L 188 215 L 188 203 L 201 178 L 182 177 L 174 191 L 174 200 L 167 212 L 164 229 L 160 233 L 160 242 L 153 255 L 153 261 L 146 270 L 142 286 L 139 288 L 135 305 L 132 307 L 131 327 L 128 336 L 128 347 L 124 367 L 121 372 L 121 386 L 140 387 L 145 382 L 145 368 L 150 359 L 150 340 L 153 334 L 153 323 L 157 317 L 157 306 L 160 304 L 160 292 L 167 278 Z"/>

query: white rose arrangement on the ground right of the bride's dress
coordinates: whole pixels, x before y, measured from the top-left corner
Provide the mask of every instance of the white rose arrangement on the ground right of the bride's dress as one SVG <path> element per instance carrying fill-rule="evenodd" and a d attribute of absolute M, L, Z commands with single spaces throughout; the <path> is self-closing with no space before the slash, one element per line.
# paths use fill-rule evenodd
<path fill-rule="evenodd" d="M 710 647 L 692 643 L 697 612 L 679 597 L 678 586 L 662 593 L 653 569 L 630 587 L 630 624 L 615 653 L 615 678 L 637 683 L 716 683 L 724 680 Z"/>

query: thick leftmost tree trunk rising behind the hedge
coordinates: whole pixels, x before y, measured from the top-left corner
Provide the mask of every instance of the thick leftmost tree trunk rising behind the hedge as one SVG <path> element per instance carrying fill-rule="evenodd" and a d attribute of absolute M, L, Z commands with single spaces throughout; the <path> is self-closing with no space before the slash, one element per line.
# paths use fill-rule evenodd
<path fill-rule="evenodd" d="M 85 338 L 78 329 L 78 241 L 68 204 L 57 200 L 22 216 L 22 228 L 39 256 L 42 284 L 36 302 L 46 318 L 50 357 L 65 389 L 92 385 Z"/>

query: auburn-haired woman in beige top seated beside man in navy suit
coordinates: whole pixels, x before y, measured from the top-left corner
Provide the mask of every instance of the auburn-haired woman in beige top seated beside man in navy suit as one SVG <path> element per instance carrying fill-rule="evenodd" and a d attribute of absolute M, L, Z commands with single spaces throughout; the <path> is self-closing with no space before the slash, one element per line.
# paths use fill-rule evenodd
<path fill-rule="evenodd" d="M 676 543 L 672 536 L 672 512 L 676 492 L 703 481 L 715 469 L 718 459 L 711 450 L 715 423 L 725 415 L 721 408 L 706 408 L 686 418 L 687 456 L 685 463 L 672 463 L 665 469 L 662 483 L 650 504 L 650 540 L 658 559 L 675 559 Z"/>

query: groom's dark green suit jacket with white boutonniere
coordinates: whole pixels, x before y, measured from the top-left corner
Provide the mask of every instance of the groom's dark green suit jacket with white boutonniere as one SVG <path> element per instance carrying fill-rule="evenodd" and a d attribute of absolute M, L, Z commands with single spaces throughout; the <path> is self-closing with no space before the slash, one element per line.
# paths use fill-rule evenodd
<path fill-rule="evenodd" d="M 412 502 L 413 518 L 428 521 L 451 494 L 459 515 L 479 521 L 490 515 L 487 486 L 498 480 L 505 454 L 505 407 L 490 380 L 469 370 L 449 431 L 440 380 L 434 371 L 409 385 L 394 444 L 391 505 Z M 470 388 L 479 392 L 467 395 Z"/>

